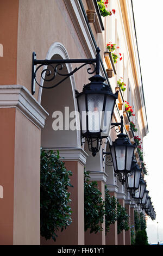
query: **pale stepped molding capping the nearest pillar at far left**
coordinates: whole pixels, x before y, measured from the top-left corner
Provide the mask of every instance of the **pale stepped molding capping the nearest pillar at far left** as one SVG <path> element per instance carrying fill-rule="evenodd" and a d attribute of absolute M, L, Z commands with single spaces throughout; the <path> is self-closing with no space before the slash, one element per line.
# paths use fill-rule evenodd
<path fill-rule="evenodd" d="M 0 86 L 0 108 L 17 108 L 32 123 L 42 129 L 48 113 L 26 87 L 20 85 Z"/>

